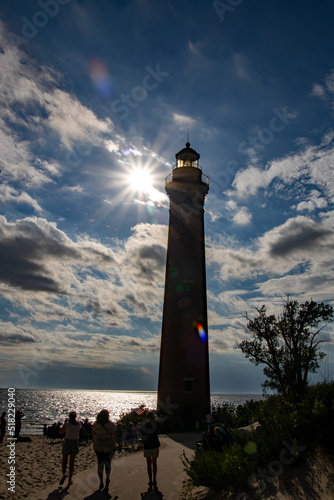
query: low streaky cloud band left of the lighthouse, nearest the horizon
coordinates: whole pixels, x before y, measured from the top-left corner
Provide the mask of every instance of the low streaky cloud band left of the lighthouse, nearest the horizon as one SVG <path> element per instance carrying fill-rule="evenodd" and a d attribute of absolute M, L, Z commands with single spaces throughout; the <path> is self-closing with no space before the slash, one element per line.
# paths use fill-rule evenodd
<path fill-rule="evenodd" d="M 47 365 L 57 363 L 85 368 L 129 366 L 159 352 L 159 335 L 136 333 L 136 336 L 106 335 L 98 331 L 87 333 L 73 326 L 48 331 L 0 321 L 0 341 L 9 357 L 9 363 L 6 362 L 7 356 L 3 358 L 2 368 L 13 369 L 16 365 L 25 382 L 24 376 L 29 378 L 32 374 L 29 368 L 39 372 Z M 23 344 L 24 349 L 18 349 L 18 344 Z"/>

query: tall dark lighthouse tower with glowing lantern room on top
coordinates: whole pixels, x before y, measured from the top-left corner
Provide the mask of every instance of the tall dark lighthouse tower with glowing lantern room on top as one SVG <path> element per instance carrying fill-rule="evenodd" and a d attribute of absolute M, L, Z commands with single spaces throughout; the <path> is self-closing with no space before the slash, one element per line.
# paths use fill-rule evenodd
<path fill-rule="evenodd" d="M 165 181 L 170 209 L 158 408 L 170 404 L 170 426 L 183 428 L 210 412 L 203 208 L 209 179 L 189 142 L 175 157 Z"/>

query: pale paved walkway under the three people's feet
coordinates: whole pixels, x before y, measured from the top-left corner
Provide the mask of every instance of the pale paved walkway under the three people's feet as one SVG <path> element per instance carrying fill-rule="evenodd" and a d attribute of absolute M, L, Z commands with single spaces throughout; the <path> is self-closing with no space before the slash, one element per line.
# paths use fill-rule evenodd
<path fill-rule="evenodd" d="M 160 436 L 161 448 L 158 458 L 158 489 L 164 500 L 179 500 L 183 482 L 187 475 L 183 470 L 180 459 L 183 451 L 188 457 L 192 456 L 196 447 L 196 440 L 200 434 L 175 434 L 170 437 Z M 97 491 L 99 480 L 97 466 L 89 468 L 73 476 L 73 485 L 66 488 L 59 487 L 58 483 L 37 491 L 27 500 L 140 500 L 141 493 L 148 491 L 148 476 L 146 460 L 143 452 L 130 453 L 117 457 L 112 462 L 111 483 L 109 492 Z M 151 493 L 150 499 L 160 498 Z"/>

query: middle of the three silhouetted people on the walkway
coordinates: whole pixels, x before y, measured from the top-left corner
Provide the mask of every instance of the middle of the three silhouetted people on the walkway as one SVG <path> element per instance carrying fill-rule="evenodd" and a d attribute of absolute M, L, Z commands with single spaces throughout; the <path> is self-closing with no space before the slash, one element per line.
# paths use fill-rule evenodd
<path fill-rule="evenodd" d="M 116 425 L 109 420 L 108 410 L 101 410 L 97 414 L 96 422 L 93 424 L 93 447 L 97 457 L 97 473 L 100 480 L 99 490 L 103 488 L 103 469 L 106 470 L 106 487 L 110 483 L 111 460 L 115 454 L 116 447 L 122 450 Z"/>

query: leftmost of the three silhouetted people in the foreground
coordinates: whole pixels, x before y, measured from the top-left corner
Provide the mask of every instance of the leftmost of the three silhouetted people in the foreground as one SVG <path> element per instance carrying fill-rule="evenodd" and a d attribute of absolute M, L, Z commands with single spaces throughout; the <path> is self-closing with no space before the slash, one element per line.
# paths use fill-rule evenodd
<path fill-rule="evenodd" d="M 59 434 L 65 433 L 65 441 L 63 444 L 63 460 L 62 460 L 62 472 L 63 477 L 59 481 L 59 484 L 63 484 L 66 479 L 66 468 L 68 457 L 70 457 L 69 473 L 68 473 L 68 485 L 72 484 L 72 476 L 74 471 L 75 457 L 79 453 L 79 433 L 81 429 L 80 422 L 77 421 L 77 414 L 75 411 L 71 411 L 69 418 L 65 419 L 64 425 L 59 430 Z"/>

